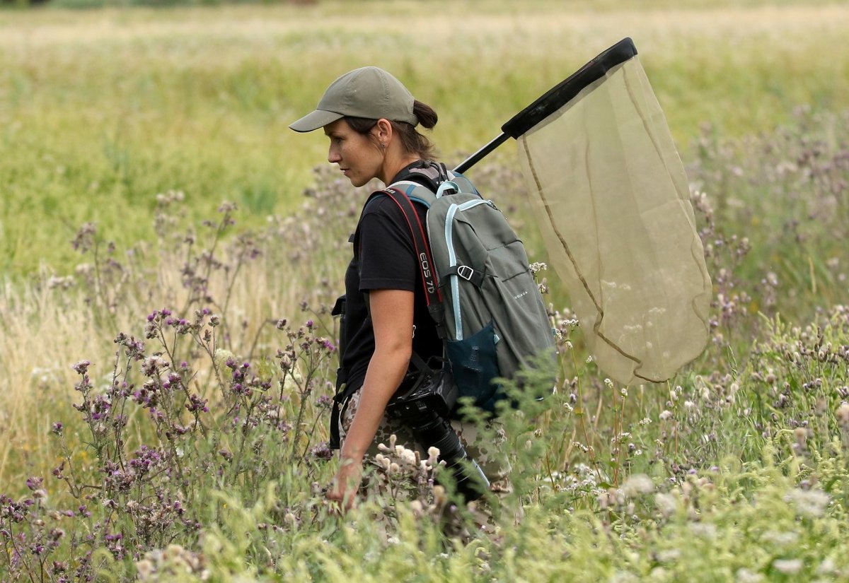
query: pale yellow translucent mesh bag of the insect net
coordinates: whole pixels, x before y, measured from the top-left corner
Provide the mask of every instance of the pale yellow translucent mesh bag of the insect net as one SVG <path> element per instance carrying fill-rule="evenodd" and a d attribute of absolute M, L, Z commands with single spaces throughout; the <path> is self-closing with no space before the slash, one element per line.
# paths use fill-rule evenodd
<path fill-rule="evenodd" d="M 517 143 L 549 264 L 599 369 L 625 385 L 668 380 L 706 346 L 711 278 L 683 164 L 638 57 Z"/>

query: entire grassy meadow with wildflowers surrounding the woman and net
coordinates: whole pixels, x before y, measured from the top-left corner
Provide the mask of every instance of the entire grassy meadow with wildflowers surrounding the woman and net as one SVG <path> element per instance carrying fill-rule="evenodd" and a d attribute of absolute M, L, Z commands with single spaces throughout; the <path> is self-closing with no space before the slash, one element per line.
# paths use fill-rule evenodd
<path fill-rule="evenodd" d="M 104 4 L 0 11 L 3 580 L 849 580 L 849 7 Z M 287 125 L 377 64 L 456 164 L 624 36 L 689 171 L 706 352 L 605 382 L 548 277 L 558 387 L 492 437 L 486 528 L 395 451 L 335 516 L 366 192 Z M 545 261 L 512 144 L 469 176 Z"/>

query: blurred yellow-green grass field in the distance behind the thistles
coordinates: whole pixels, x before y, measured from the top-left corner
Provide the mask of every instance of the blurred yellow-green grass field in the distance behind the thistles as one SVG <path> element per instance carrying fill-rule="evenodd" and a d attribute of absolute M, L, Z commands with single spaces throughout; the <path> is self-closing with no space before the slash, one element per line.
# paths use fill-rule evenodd
<path fill-rule="evenodd" d="M 72 255 L 57 242 L 85 221 L 124 242 L 149 238 L 155 194 L 171 189 L 186 193 L 194 219 L 225 199 L 251 225 L 290 212 L 325 144 L 287 125 L 362 64 L 391 69 L 434 105 L 434 138 L 456 163 L 632 36 L 687 152 L 705 123 L 739 136 L 800 104 L 846 107 L 847 28 L 846 8 L 828 3 L 3 12 L 2 267 L 28 274 L 43 259 L 66 269 Z"/>

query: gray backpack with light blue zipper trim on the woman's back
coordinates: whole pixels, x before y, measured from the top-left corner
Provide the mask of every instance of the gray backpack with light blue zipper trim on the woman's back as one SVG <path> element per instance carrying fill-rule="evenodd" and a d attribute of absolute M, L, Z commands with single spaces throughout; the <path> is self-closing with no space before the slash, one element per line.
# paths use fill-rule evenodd
<path fill-rule="evenodd" d="M 554 358 L 554 331 L 525 247 L 495 204 L 444 166 L 416 172 L 436 192 L 404 180 L 373 196 L 391 197 L 410 225 L 459 397 L 492 412 L 505 396 L 493 380 L 512 378 L 541 353 Z M 427 225 L 413 203 L 428 208 Z"/>

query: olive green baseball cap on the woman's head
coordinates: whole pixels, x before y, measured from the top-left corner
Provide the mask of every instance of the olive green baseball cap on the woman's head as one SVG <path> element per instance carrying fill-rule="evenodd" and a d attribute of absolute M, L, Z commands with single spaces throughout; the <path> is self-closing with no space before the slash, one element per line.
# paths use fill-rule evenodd
<path fill-rule="evenodd" d="M 344 117 L 406 121 L 413 126 L 413 94 L 401 81 L 378 67 L 354 69 L 330 84 L 316 110 L 289 127 L 312 131 Z"/>

